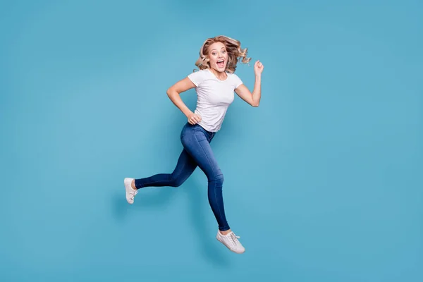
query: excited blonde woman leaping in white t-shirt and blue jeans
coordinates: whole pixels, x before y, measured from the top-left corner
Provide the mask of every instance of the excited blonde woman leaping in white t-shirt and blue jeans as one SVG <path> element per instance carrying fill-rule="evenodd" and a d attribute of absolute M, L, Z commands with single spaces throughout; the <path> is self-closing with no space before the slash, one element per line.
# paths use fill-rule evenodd
<path fill-rule="evenodd" d="M 233 102 L 234 93 L 251 106 L 259 106 L 261 97 L 261 75 L 263 64 L 255 63 L 255 85 L 250 92 L 235 75 L 237 63 L 250 62 L 247 49 L 241 49 L 240 42 L 226 36 L 207 39 L 201 49 L 200 58 L 195 65 L 199 71 L 176 82 L 167 90 L 168 97 L 188 118 L 180 134 L 183 145 L 176 168 L 172 173 L 160 173 L 147 178 L 125 178 L 126 200 L 133 204 L 138 190 L 145 187 L 178 187 L 199 166 L 208 179 L 208 198 L 210 207 L 219 226 L 216 238 L 229 250 L 245 252 L 238 236 L 231 231 L 223 207 L 223 174 L 214 158 L 210 142 L 220 130 L 228 106 Z M 190 111 L 180 99 L 180 93 L 195 88 L 197 107 Z"/>

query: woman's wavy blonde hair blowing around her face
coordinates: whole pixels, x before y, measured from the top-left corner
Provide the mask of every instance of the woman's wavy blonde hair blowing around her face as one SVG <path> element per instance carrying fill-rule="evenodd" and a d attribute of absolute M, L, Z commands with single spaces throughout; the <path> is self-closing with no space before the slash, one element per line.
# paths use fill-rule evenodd
<path fill-rule="evenodd" d="M 228 52 L 228 63 L 226 63 L 225 71 L 235 73 L 238 62 L 250 63 L 251 58 L 247 58 L 247 48 L 241 49 L 241 42 L 231 37 L 219 35 L 216 37 L 207 38 L 200 49 L 200 58 L 195 62 L 195 66 L 200 70 L 210 68 L 209 64 L 209 47 L 213 43 L 221 42 L 225 45 Z"/>

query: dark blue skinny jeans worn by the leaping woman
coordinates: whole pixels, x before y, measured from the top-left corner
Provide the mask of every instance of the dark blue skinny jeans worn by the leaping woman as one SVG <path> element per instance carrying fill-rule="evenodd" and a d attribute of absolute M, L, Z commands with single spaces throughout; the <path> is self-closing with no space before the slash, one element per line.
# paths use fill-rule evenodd
<path fill-rule="evenodd" d="M 207 195 L 210 207 L 220 231 L 227 231 L 229 228 L 226 221 L 225 209 L 223 207 L 222 185 L 223 174 L 217 164 L 210 142 L 216 133 L 209 132 L 200 125 L 186 123 L 180 133 L 180 141 L 183 151 L 180 153 L 176 168 L 172 173 L 159 173 L 147 178 L 135 179 L 137 189 L 145 187 L 178 187 L 195 171 L 199 166 L 206 174 L 208 180 Z"/>

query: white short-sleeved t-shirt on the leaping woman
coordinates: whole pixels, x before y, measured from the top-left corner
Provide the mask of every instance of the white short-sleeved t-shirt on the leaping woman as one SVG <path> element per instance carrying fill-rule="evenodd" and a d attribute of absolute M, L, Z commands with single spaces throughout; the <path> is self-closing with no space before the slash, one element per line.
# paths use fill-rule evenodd
<path fill-rule="evenodd" d="M 219 80 L 209 69 L 196 71 L 188 75 L 195 84 L 197 107 L 195 114 L 201 116 L 198 123 L 210 132 L 219 131 L 228 106 L 234 99 L 234 90 L 243 82 L 235 73 L 227 73 L 226 80 Z"/>

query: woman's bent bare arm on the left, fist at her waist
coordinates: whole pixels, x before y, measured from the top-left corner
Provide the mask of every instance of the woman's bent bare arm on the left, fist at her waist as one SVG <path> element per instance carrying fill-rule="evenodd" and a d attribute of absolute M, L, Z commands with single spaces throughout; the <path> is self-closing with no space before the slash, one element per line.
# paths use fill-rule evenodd
<path fill-rule="evenodd" d="M 175 106 L 177 106 L 178 109 L 180 109 L 180 111 L 182 111 L 183 114 L 185 114 L 185 116 L 188 118 L 188 122 L 191 124 L 200 122 L 201 117 L 194 114 L 188 108 L 188 106 L 184 104 L 184 102 L 180 98 L 180 93 L 190 90 L 194 87 L 195 87 L 194 83 L 187 77 L 187 78 L 184 78 L 183 80 L 179 80 L 174 85 L 169 87 L 169 89 L 166 91 L 169 99 L 171 99 L 173 104 L 175 104 Z"/>

